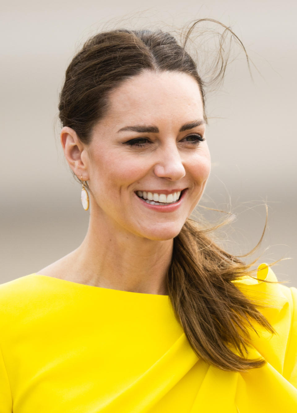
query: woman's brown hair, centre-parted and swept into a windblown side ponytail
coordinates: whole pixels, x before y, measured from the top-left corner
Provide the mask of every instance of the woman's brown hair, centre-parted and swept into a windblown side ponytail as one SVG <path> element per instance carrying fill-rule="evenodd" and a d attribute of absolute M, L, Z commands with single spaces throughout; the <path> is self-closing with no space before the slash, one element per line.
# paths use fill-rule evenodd
<path fill-rule="evenodd" d="M 108 93 L 144 70 L 176 71 L 195 78 L 207 122 L 205 83 L 185 49 L 191 31 L 201 21 L 214 20 L 194 22 L 183 45 L 161 30 L 115 29 L 87 40 L 66 70 L 59 102 L 62 126 L 73 128 L 80 140 L 88 144 L 93 126 L 108 109 Z M 235 36 L 246 57 L 247 54 L 230 28 L 214 22 L 225 29 L 215 63 L 217 74 L 213 76 L 213 81 L 218 81 L 222 80 L 228 61 L 222 52 L 226 33 Z M 257 303 L 232 282 L 252 273 L 251 265 L 219 248 L 207 237 L 207 230 L 189 218 L 174 238 L 166 281 L 175 315 L 196 354 L 223 370 L 243 371 L 264 365 L 263 359 L 247 358 L 248 331 L 250 328 L 256 331 L 252 321 L 274 332 L 257 309 Z"/>

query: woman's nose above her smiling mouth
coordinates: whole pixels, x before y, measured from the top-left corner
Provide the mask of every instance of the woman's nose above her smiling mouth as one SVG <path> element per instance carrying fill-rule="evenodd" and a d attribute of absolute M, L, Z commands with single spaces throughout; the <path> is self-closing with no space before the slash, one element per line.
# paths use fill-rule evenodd
<path fill-rule="evenodd" d="M 159 178 L 167 178 L 172 181 L 177 181 L 186 175 L 186 170 L 176 145 L 167 145 L 166 147 L 159 148 L 158 161 L 154 166 L 154 173 Z"/>

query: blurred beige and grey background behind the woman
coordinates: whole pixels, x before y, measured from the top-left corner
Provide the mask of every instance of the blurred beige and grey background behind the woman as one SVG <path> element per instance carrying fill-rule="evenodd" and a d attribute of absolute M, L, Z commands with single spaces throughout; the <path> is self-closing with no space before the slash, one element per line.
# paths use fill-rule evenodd
<path fill-rule="evenodd" d="M 178 31 L 212 18 L 230 26 L 245 55 L 227 67 L 224 85 L 207 96 L 212 173 L 198 210 L 224 247 L 246 254 L 268 225 L 259 262 L 297 287 L 296 274 L 296 2 L 284 0 L 2 1 L 0 283 L 38 272 L 78 247 L 88 225 L 59 142 L 57 103 L 65 70 L 97 31 L 160 27 Z"/>

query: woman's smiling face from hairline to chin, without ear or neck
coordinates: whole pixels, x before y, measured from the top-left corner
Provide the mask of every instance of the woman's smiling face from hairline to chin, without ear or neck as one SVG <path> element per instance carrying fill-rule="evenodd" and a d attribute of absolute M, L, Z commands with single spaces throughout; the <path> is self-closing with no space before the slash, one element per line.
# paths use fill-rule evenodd
<path fill-rule="evenodd" d="M 128 79 L 111 92 L 110 108 L 82 152 L 91 214 L 115 231 L 172 239 L 210 173 L 204 139 L 203 103 L 194 78 L 144 71 Z"/>

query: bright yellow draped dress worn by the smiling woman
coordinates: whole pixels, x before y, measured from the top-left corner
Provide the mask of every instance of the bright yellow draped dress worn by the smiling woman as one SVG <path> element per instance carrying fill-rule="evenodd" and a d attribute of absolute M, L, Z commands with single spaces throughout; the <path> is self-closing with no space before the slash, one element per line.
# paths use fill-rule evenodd
<path fill-rule="evenodd" d="M 0 413 L 296 413 L 297 289 L 236 285 L 273 305 L 278 332 L 252 337 L 267 363 L 246 373 L 198 358 L 166 295 L 37 274 L 0 285 Z"/>

